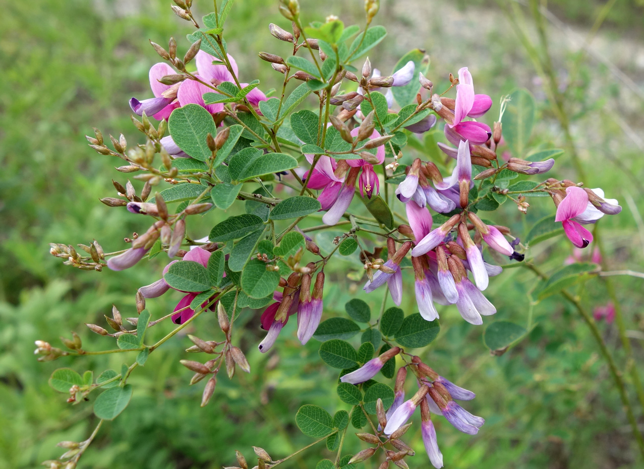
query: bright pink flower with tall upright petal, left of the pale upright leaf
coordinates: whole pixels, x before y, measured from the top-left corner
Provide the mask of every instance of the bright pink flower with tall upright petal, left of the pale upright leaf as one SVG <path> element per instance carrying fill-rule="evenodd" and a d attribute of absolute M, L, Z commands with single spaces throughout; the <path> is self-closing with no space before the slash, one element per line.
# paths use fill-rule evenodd
<path fill-rule="evenodd" d="M 474 94 L 472 75 L 467 67 L 459 70 L 459 85 L 456 87 L 456 103 L 453 123 L 446 125 L 459 134 L 462 139 L 475 145 L 486 143 L 492 136 L 488 125 L 476 121 L 463 121 L 465 117 L 480 117 L 492 105 L 492 99 L 485 94 Z"/>

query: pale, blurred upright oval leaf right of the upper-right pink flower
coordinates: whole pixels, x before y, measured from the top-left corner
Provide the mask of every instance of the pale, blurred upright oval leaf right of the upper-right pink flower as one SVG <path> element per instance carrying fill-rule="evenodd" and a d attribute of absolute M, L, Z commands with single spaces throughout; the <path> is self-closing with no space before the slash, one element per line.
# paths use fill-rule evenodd
<path fill-rule="evenodd" d="M 535 123 L 535 98 L 529 91 L 515 90 L 503 114 L 503 138 L 515 157 L 522 157 Z"/>

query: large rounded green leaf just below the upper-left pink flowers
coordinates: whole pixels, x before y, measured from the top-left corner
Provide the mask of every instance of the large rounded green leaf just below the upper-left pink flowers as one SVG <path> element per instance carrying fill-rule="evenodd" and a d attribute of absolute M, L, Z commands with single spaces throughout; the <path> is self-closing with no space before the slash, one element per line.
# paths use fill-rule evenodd
<path fill-rule="evenodd" d="M 217 134 L 213 116 L 200 105 L 189 104 L 176 108 L 167 122 L 172 139 L 179 148 L 194 159 L 206 161 L 213 152 L 208 149 L 206 135 Z"/>

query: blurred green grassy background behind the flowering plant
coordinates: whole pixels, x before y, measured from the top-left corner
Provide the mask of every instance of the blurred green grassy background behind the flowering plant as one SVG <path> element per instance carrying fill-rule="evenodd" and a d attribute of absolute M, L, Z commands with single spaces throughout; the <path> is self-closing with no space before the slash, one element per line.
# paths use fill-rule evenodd
<path fill-rule="evenodd" d="M 209 3 L 195 3 L 196 11 L 209 12 Z M 428 77 L 435 83 L 444 84 L 448 72 L 456 74 L 461 66 L 469 66 L 477 92 L 491 95 L 495 103 L 517 86 L 528 88 L 538 103 L 534 141 L 564 147 L 564 134 L 542 82 L 498 3 L 383 0 L 382 4 L 375 23 L 386 26 L 389 36 L 370 52 L 374 66 L 386 73 L 401 55 L 420 47 L 431 57 Z M 242 76 L 248 81 L 259 78 L 264 90 L 278 86 L 279 76 L 256 52 L 285 52 L 285 45 L 273 39 L 267 28 L 270 21 L 288 26 L 276 5 L 276 1 L 237 1 L 225 33 Z M 547 26 L 553 68 L 588 174 L 587 186 L 604 188 L 607 197 L 616 197 L 623 206 L 621 215 L 600 221 L 604 262 L 609 270 L 641 272 L 643 3 L 618 0 L 606 6 L 600 1 L 560 0 L 550 7 L 556 15 L 551 20 L 562 22 Z M 323 21 L 334 14 L 346 25 L 363 23 L 359 0 L 324 5 L 301 0 L 301 8 L 305 21 Z M 106 250 L 117 250 L 124 235 L 144 229 L 145 221 L 98 202 L 100 197 L 113 196 L 110 177 L 122 183 L 126 178 L 113 170 L 118 161 L 86 146 L 84 135 L 91 135 L 91 127 L 97 126 L 106 137 L 123 132 L 131 145 L 140 141 L 129 122 L 128 99 L 151 95 L 147 70 L 158 57 L 147 41 L 163 45 L 169 35 L 175 35 L 185 51 L 183 38 L 191 28 L 171 13 L 166 0 L 5 2 L 2 10 L 0 468 L 15 469 L 36 467 L 57 457 L 62 453 L 55 447 L 58 441 L 80 441 L 96 423 L 91 402 L 71 406 L 65 403 L 66 396 L 48 386 L 55 368 L 70 366 L 98 374 L 133 360 L 114 354 L 38 363 L 32 354 L 33 341 L 60 346 L 57 337 L 75 330 L 88 348 L 107 348 L 106 339 L 91 334 L 82 323 L 104 324 L 102 315 L 109 314 L 112 303 L 124 317 L 136 315 L 138 286 L 158 278 L 164 261 L 158 257 L 149 266 L 141 263 L 119 273 L 81 272 L 52 257 L 48 243 L 88 244 L 95 238 Z M 598 22 L 598 17 L 605 21 Z M 593 25 L 600 23 L 589 41 Z M 530 21 L 526 28 L 536 38 Z M 582 45 L 589 54 L 580 52 Z M 484 120 L 491 124 L 497 115 L 498 104 Z M 567 155 L 558 160 L 553 173 L 576 177 Z M 508 204 L 496 215 L 498 223 L 525 235 L 529 223 L 554 211 L 549 199 L 529 201 L 527 217 Z M 212 221 L 204 222 L 211 225 Z M 202 234 L 195 230 L 194 235 Z M 558 237 L 540 244 L 535 252 L 537 263 L 553 270 L 571 254 L 571 244 Z M 357 271 L 359 266 L 338 264 L 331 272 L 330 280 L 337 286 L 325 292 L 325 317 L 344 314 L 343 304 L 351 297 L 365 299 L 373 310 L 379 308 L 381 295 L 364 295 L 358 283 L 346 280 L 346 270 L 352 269 Z M 612 280 L 635 362 L 644 372 L 642 279 Z M 493 279 L 486 292 L 497 305 L 493 319 L 525 324 L 526 292 L 533 283 L 533 274 L 520 268 Z M 411 292 L 407 290 L 403 303 L 407 314 L 416 307 Z M 587 284 L 581 294 L 589 309 L 609 301 L 599 279 Z M 153 317 L 160 317 L 178 299 L 176 293 L 167 294 L 149 301 L 148 308 Z M 441 314 L 439 338 L 422 357 L 442 375 L 476 392 L 477 399 L 466 408 L 487 421 L 477 436 L 469 437 L 437 420 L 446 467 L 641 467 L 618 392 L 587 326 L 559 296 L 535 306 L 534 314 L 538 324 L 533 332 L 501 357 L 489 354 L 482 343 L 483 329 L 466 324 L 455 308 Z M 241 321 L 247 324 L 241 346 L 248 351 L 252 374 L 238 374 L 232 381 L 222 376 L 204 409 L 199 407 L 202 384 L 188 386 L 191 372 L 178 364 L 185 357 L 187 339 L 173 339 L 151 355 L 131 377 L 135 395 L 129 408 L 103 426 L 80 467 L 217 468 L 236 464 L 234 449 L 251 461 L 251 446 L 262 446 L 278 459 L 310 443 L 294 425 L 294 414 L 303 403 L 316 403 L 330 412 L 346 408 L 333 392 L 336 372 L 319 360 L 316 341 L 299 346 L 295 321 L 269 356 L 260 355 L 257 322 L 258 316 L 250 313 Z M 625 356 L 616 325 L 598 325 L 623 370 Z M 216 332 L 216 321 L 202 317 L 194 327 L 198 334 L 210 337 Z M 163 333 L 154 331 L 155 337 Z M 635 410 L 644 427 L 642 409 L 635 405 Z M 420 435 L 408 441 L 417 450 L 410 465 L 427 467 Z M 354 453 L 363 447 L 350 438 L 345 450 Z M 315 446 L 289 461 L 288 467 L 311 468 L 323 457 L 330 453 Z M 375 468 L 379 462 L 365 464 Z"/>

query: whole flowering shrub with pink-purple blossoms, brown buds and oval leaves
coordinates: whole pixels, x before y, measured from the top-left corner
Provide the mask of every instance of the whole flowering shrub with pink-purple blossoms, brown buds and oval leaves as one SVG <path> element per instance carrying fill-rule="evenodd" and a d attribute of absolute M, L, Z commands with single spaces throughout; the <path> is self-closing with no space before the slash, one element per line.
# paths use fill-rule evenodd
<path fill-rule="evenodd" d="M 270 92 L 265 83 L 260 91 L 259 81 L 227 52 L 223 36 L 225 21 L 234 21 L 232 0 L 215 2 L 216 11 L 200 20 L 191 1 L 175 3 L 175 14 L 196 30 L 189 42 L 171 38 L 167 49 L 152 43 L 163 61 L 149 70 L 151 91 L 129 102 L 144 139 L 133 144 L 110 135 L 107 141 L 97 129 L 87 137 L 100 155 L 122 160 L 117 171 L 133 179 L 113 181 L 116 197 L 102 203 L 147 219 L 149 228 L 124 232 L 126 246 L 117 252 L 105 252 L 98 241 L 79 244 L 81 250 L 51 245 L 53 255 L 81 270 L 149 270 L 149 284 L 131 290 L 138 314 L 124 318 L 114 306 L 106 327 L 87 324 L 108 350 L 86 348 L 76 334 L 63 339 L 68 350 L 36 343 L 41 361 L 120 352 L 129 364 L 95 370 L 96 377 L 93 370 L 53 373 L 50 383 L 68 394 L 69 403 L 86 406 L 93 398 L 99 423 L 86 441 L 61 442 L 68 451 L 45 464 L 75 468 L 101 423 L 128 406 L 136 392 L 131 375 L 168 341 L 184 342 L 195 357 L 176 360 L 194 372 L 189 384 L 205 381 L 201 406 L 218 405 L 220 372 L 224 379 L 235 379 L 236 370 L 252 373 L 245 354 L 279 349 L 291 319 L 297 340 L 319 341 L 319 357 L 340 370 L 339 381 L 320 381 L 319 388 L 346 403 L 346 409 L 306 404 L 292 417 L 315 443 L 326 442 L 330 459 L 317 468 L 352 468 L 366 459 L 381 469 L 390 463 L 426 467 L 403 441 L 419 426 L 431 464 L 450 466 L 434 422 L 444 418 L 473 435 L 485 421 L 467 410 L 474 392 L 454 384 L 457 375 L 443 377 L 447 371 L 426 348 L 439 337 L 439 312 L 458 312 L 471 324 L 488 322 L 484 316 L 497 308 L 484 292 L 504 266 L 538 272 L 531 301 L 588 279 L 598 266 L 574 259 L 551 276 L 542 274 L 527 257 L 529 247 L 565 233 L 585 248 L 592 243 L 587 226 L 618 214 L 620 206 L 601 189 L 547 177 L 563 151 L 526 147 L 535 114 L 526 91 L 495 99 L 476 94 L 485 87 L 477 83 L 475 90 L 467 66 L 457 76 L 430 70 L 420 49 L 404 55 L 391 74 L 372 68 L 365 56 L 386 35 L 383 26 L 371 26 L 377 0 L 365 1 L 363 30 L 345 27 L 335 16 L 304 23 L 297 0 L 282 0 L 279 10 L 288 23 L 253 33 L 265 36 L 273 51 L 259 54 L 279 79 Z M 449 82 L 441 80 L 444 89 L 428 78 L 448 75 Z M 486 115 L 495 100 L 498 121 Z M 437 143 L 440 134 L 448 143 Z M 549 204 L 548 196 L 556 214 L 553 209 L 528 227 L 521 241 L 507 228 L 507 217 L 526 214 L 529 197 Z M 503 204 L 517 210 L 497 214 Z M 191 226 L 204 223 L 209 232 Z M 330 227 L 334 235 L 323 236 Z M 325 275 L 339 257 L 359 267 L 349 275 Z M 328 307 L 325 292 L 346 286 L 334 282 L 360 283 L 380 310 L 372 315 L 365 301 L 352 299 L 348 317 L 330 317 L 337 305 Z M 146 299 L 160 295 L 173 297 L 173 311 L 146 309 Z M 418 312 L 385 308 L 389 295 L 396 305 L 415 296 Z M 216 315 L 218 330 L 202 325 L 207 315 Z M 525 327 L 491 323 L 485 343 L 494 354 L 529 333 L 531 312 L 526 315 Z M 246 327 L 263 329 L 263 340 L 242 344 L 240 317 L 254 318 Z M 171 332 L 155 334 L 160 323 L 173 323 Z M 178 334 L 187 326 L 192 334 Z M 349 340 L 358 333 L 356 349 L 358 342 Z M 366 445 L 355 455 L 343 454 L 346 439 L 353 438 L 349 425 Z M 259 446 L 254 450 L 261 469 L 292 456 L 274 459 Z M 247 469 L 243 455 L 236 455 Z"/>

